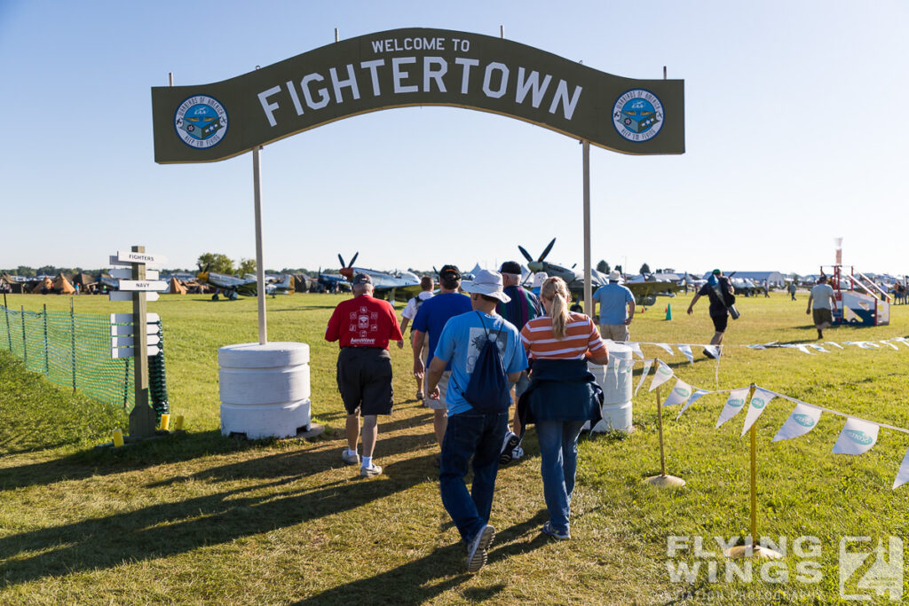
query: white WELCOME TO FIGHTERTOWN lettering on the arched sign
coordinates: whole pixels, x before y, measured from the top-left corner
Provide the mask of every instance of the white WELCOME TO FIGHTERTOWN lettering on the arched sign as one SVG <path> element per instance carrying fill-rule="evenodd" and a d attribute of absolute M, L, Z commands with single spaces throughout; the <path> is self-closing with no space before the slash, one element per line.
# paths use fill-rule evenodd
<path fill-rule="evenodd" d="M 389 105 L 419 104 L 423 93 L 445 94 L 451 104 L 463 104 L 464 95 L 484 94 L 491 99 L 544 109 L 571 120 L 581 99 L 582 86 L 524 65 L 508 65 L 469 56 L 401 55 L 408 51 L 466 52 L 463 39 L 404 38 L 372 41 L 375 58 L 358 64 L 336 65 L 325 72 L 301 74 L 275 83 L 257 94 L 268 124 L 277 126 L 293 111 L 318 112 L 331 104 L 345 104 L 362 96 L 384 97 Z"/>

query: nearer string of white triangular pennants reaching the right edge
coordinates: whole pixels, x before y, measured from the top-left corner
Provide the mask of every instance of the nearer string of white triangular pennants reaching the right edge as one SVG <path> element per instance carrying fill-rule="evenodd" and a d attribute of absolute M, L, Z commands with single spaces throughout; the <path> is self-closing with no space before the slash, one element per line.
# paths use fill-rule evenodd
<path fill-rule="evenodd" d="M 624 364 L 620 363 L 616 372 L 628 372 L 627 367 L 629 366 L 629 361 L 623 360 L 621 362 Z M 793 402 L 795 408 L 793 412 L 790 413 L 789 417 L 786 418 L 779 431 L 774 435 L 773 442 L 791 440 L 812 431 L 814 427 L 817 426 L 821 419 L 821 414 L 824 412 L 844 417 L 846 420 L 843 430 L 840 432 L 836 443 L 834 443 L 834 453 L 863 454 L 864 452 L 870 451 L 874 447 L 874 444 L 877 443 L 877 434 L 882 427 L 893 430 L 894 432 L 909 433 L 909 430 L 902 427 L 894 427 L 894 425 L 862 419 L 851 414 L 835 411 L 832 408 L 825 408 L 824 406 L 818 406 L 817 404 L 812 404 L 810 402 L 803 402 L 802 400 L 790 397 L 784 393 L 774 392 L 759 386 L 755 387 L 754 394 L 751 397 L 751 401 L 747 402 L 748 406 L 746 408 L 745 400 L 747 400 L 748 392 L 751 390 L 750 386 L 724 390 L 701 389 L 676 377 L 673 369 L 659 358 L 645 359 L 643 362 L 644 371 L 641 374 L 640 381 L 637 383 L 637 387 L 634 389 L 634 394 L 636 395 L 638 390 L 641 389 L 644 379 L 650 373 L 651 367 L 656 363 L 656 369 L 654 370 L 653 379 L 650 382 L 649 391 L 653 392 L 657 387 L 675 378 L 673 389 L 669 392 L 669 395 L 663 402 L 663 406 L 682 406 L 682 409 L 675 417 L 676 421 L 678 421 L 683 412 L 688 410 L 694 402 L 700 400 L 705 395 L 712 393 L 728 393 L 729 396 L 726 399 L 723 410 L 716 420 L 716 428 L 718 429 L 724 422 L 729 421 L 739 412 L 742 412 L 742 410 L 747 410 L 740 437 L 744 436 L 744 434 L 751 429 L 754 422 L 757 421 L 757 418 L 761 416 L 764 410 L 766 410 L 767 405 L 774 400 L 774 398 Z M 634 361 L 631 361 L 630 365 L 634 366 Z M 893 490 L 896 490 L 906 482 L 909 482 L 909 450 L 906 451 L 903 462 L 900 464 L 900 469 L 896 473 Z"/>

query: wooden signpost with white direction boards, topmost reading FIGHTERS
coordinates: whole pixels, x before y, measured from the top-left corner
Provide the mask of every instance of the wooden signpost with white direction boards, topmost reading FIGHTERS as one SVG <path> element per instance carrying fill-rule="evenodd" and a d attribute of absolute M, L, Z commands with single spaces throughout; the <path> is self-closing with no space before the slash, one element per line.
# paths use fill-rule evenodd
<path fill-rule="evenodd" d="M 154 435 L 157 424 L 155 410 L 148 403 L 148 356 L 158 353 L 160 346 L 158 336 L 148 334 L 147 326 L 151 319 L 146 313 L 145 303 L 157 299 L 155 291 L 162 291 L 167 285 L 156 280 L 157 272 L 146 272 L 145 265 L 160 265 L 164 261 L 165 258 L 160 254 L 146 254 L 145 246 L 133 246 L 131 251 L 117 251 L 116 255 L 111 256 L 112 264 L 132 265 L 129 270 L 115 269 L 111 272 L 112 277 L 121 280 L 119 291 L 110 293 L 110 300 L 133 302 L 132 330 L 129 330 L 130 327 L 116 325 L 117 320 L 125 320 L 123 316 L 126 314 L 111 314 L 111 357 L 135 357 L 135 406 L 129 414 L 129 433 L 138 438 Z M 131 279 L 126 280 L 126 277 Z M 155 320 L 152 322 L 156 323 L 157 316 L 154 315 Z M 145 329 L 142 328 L 144 326 Z M 145 355 L 135 355 L 136 352 L 144 352 Z"/>

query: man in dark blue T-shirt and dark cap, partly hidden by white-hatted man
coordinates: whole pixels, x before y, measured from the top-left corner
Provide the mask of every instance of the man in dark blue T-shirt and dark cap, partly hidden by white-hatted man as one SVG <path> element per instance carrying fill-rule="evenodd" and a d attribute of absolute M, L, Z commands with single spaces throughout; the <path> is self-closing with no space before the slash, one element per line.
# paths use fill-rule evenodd
<path fill-rule="evenodd" d="M 433 361 L 435 345 L 439 343 L 439 336 L 445 323 L 449 318 L 470 311 L 470 299 L 457 292 L 461 285 L 461 272 L 456 265 L 444 265 L 439 272 L 439 293 L 433 298 L 427 299 L 420 309 L 416 312 L 414 318 L 414 376 L 423 377 L 425 366 L 423 364 L 422 347 L 418 343 L 423 343 L 423 337 L 429 335 L 429 356 L 426 358 L 426 364 Z M 432 399 L 429 397 L 429 390 L 426 390 L 424 403 L 427 407 L 433 409 L 433 429 L 435 430 L 435 441 L 442 448 L 442 441 L 445 439 L 445 426 L 448 418 L 445 416 L 445 389 L 448 385 L 448 377 L 451 376 L 451 367 L 445 369 L 441 380 L 439 381 L 439 391 L 442 397 Z M 436 459 L 436 463 L 438 459 Z"/>

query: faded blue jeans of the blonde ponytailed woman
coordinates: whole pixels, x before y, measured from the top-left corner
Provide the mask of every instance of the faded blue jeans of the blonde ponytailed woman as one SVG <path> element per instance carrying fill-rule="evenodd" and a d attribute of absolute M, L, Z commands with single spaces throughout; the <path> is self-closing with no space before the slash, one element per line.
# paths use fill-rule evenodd
<path fill-rule="evenodd" d="M 583 421 L 540 421 L 536 437 L 540 442 L 540 472 L 549 520 L 557 531 L 568 531 L 574 472 L 577 469 L 577 436 Z"/>

